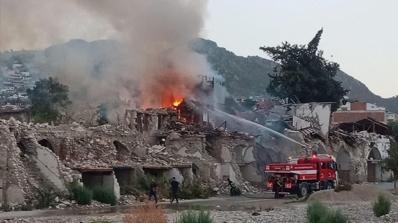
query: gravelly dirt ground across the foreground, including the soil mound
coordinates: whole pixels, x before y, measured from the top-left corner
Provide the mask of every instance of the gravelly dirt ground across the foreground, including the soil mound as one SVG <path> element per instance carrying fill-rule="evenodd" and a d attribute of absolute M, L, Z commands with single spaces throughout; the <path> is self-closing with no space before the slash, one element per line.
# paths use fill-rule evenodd
<path fill-rule="evenodd" d="M 375 217 L 372 202 L 377 200 L 378 194 L 385 194 L 393 201 L 389 215 Z M 313 200 L 320 200 L 331 209 L 341 210 L 351 223 L 392 223 L 398 222 L 398 196 L 388 192 L 388 189 L 378 188 L 373 185 L 356 185 L 351 191 L 334 192 L 324 190 L 315 192 L 306 202 L 293 199 L 260 199 L 240 197 L 211 198 L 208 200 L 187 200 L 178 205 L 170 203 L 161 204 L 170 223 L 174 222 L 181 211 L 202 208 L 210 212 L 214 223 L 305 223 L 306 208 Z M 130 209 L 126 209 L 129 211 Z M 256 211 L 258 216 L 252 215 Z M 124 213 L 107 214 L 60 214 L 49 215 L 38 213 L 14 213 L 20 220 L 2 220 L 1 223 L 90 223 L 92 220 L 108 219 L 115 223 L 123 223 Z M 34 212 L 31 212 L 34 213 Z M 0 213 L 2 215 L 3 213 Z M 20 214 L 20 215 L 18 215 Z M 23 215 L 22 215 L 23 214 Z M 5 216 L 5 215 L 4 215 Z M 8 216 L 12 216 L 8 214 Z M 0 217 L 0 219 L 2 216 Z"/>

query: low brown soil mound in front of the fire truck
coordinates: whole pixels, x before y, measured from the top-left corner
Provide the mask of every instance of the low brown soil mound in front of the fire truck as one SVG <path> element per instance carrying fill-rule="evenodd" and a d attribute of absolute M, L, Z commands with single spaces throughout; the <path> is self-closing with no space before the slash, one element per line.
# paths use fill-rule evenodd
<path fill-rule="evenodd" d="M 347 202 L 347 201 L 375 201 L 379 194 L 384 194 L 390 200 L 397 200 L 398 196 L 385 188 L 373 185 L 355 185 L 351 190 L 334 192 L 334 190 L 320 190 L 310 195 L 308 200 L 323 202 Z"/>

